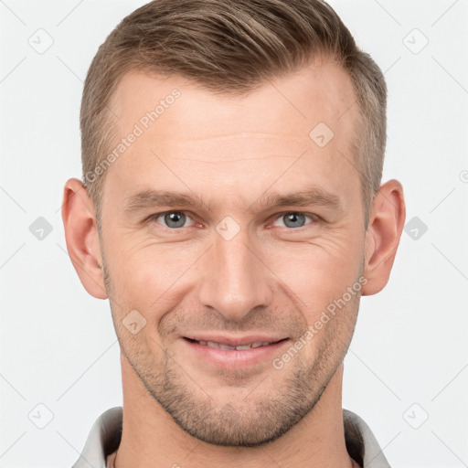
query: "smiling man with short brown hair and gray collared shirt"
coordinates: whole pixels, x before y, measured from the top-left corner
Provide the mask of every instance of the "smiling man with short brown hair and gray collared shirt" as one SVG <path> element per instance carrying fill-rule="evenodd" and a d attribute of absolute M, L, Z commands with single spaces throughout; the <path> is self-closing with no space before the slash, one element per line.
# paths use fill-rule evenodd
<path fill-rule="evenodd" d="M 155 0 L 107 37 L 62 218 L 110 300 L 123 406 L 75 468 L 389 466 L 342 409 L 405 218 L 386 94 L 319 0 Z"/>

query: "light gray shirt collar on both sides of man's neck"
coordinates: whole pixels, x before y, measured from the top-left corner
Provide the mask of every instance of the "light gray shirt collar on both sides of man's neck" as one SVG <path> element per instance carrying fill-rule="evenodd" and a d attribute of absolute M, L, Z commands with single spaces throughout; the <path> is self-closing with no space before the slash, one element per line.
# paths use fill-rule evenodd
<path fill-rule="evenodd" d="M 390 468 L 366 422 L 343 409 L 346 450 L 366 468 Z M 80 458 L 71 468 L 113 468 L 113 460 L 122 438 L 122 407 L 104 411 L 91 427 Z"/>

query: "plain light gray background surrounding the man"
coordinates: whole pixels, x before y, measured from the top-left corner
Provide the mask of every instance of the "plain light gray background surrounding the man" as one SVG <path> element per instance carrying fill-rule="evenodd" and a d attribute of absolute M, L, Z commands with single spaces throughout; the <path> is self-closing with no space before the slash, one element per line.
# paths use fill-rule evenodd
<path fill-rule="evenodd" d="M 0 467 L 71 466 L 94 420 L 122 405 L 109 303 L 81 286 L 60 205 L 80 177 L 90 61 L 144 3 L 0 0 Z M 468 0 L 330 3 L 385 72 L 384 181 L 399 179 L 407 222 L 428 228 L 403 233 L 388 286 L 361 301 L 343 406 L 392 467 L 468 466 Z M 47 44 L 39 28 L 53 38 L 42 54 L 28 43 Z M 42 240 L 38 217 L 52 228 Z"/>

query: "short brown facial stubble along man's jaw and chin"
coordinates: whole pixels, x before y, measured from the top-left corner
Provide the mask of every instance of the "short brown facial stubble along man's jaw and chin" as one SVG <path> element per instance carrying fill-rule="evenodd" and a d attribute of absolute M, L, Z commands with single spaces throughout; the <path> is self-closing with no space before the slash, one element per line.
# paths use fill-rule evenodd
<path fill-rule="evenodd" d="M 112 282 L 103 256 L 102 262 L 106 289 L 108 293 L 112 293 Z M 351 307 L 356 314 L 359 298 L 360 295 L 357 295 Z M 111 294 L 110 303 L 113 308 Z M 118 315 L 113 315 L 115 320 Z M 271 375 L 267 376 L 237 406 L 236 402 L 229 402 L 217 407 L 216 398 L 210 395 L 210 389 L 204 388 L 203 382 L 191 378 L 190 369 L 184 370 L 161 346 L 163 358 L 158 365 L 150 352 L 145 355 L 142 349 L 134 346 L 129 346 L 127 350 L 126 340 L 122 336 L 119 342 L 123 356 L 133 368 L 148 395 L 172 417 L 179 428 L 209 444 L 255 447 L 277 440 L 314 410 L 346 356 L 354 334 L 353 322 L 356 324 L 356 316 L 341 318 L 342 320 L 340 317 L 335 318 L 336 326 L 334 329 L 329 329 L 327 337 L 317 348 L 314 362 L 299 367 L 301 356 L 295 356 L 297 364 L 293 371 L 285 374 L 281 386 L 275 386 L 266 394 L 261 394 L 261 388 L 264 388 L 271 378 Z M 352 330 L 349 334 L 350 325 Z M 123 329 L 122 334 L 124 334 Z M 333 337 L 336 334 L 347 335 L 347 342 L 334 341 Z M 157 372 L 157 369 L 161 370 Z M 271 367 L 271 372 L 278 371 Z M 229 388 L 245 387 L 246 375 L 244 371 L 219 372 L 219 377 Z"/>

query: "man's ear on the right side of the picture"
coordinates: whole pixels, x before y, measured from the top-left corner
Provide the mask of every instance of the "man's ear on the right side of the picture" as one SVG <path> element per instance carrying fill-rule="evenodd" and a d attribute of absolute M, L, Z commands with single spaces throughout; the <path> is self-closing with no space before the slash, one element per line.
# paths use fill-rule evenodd
<path fill-rule="evenodd" d="M 403 187 L 398 180 L 380 186 L 372 204 L 366 231 L 362 295 L 381 291 L 388 282 L 406 218 Z"/>

